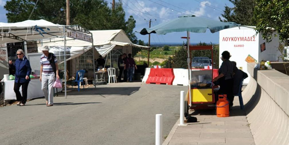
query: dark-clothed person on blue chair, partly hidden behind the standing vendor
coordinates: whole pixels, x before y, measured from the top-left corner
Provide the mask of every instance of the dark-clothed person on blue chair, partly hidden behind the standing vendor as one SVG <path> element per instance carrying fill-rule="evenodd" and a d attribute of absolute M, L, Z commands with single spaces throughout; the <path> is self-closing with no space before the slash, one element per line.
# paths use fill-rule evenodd
<path fill-rule="evenodd" d="M 234 64 L 234 67 L 237 68 L 236 62 L 235 61 L 231 61 L 231 62 Z M 241 80 L 247 77 L 248 77 L 247 73 L 243 72 L 242 70 L 239 70 L 238 68 L 234 69 L 234 74 L 233 74 L 233 80 L 234 80 L 233 94 L 234 95 L 238 94 Z"/>

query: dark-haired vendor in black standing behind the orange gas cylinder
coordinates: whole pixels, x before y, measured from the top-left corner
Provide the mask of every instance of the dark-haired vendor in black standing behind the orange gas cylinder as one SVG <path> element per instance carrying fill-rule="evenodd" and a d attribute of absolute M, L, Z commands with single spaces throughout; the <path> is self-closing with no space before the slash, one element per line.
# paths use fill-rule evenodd
<path fill-rule="evenodd" d="M 228 51 L 224 51 L 222 53 L 222 65 L 219 69 L 219 75 L 214 78 L 213 81 L 219 81 L 220 89 L 218 90 L 218 95 L 220 94 L 227 94 L 227 99 L 230 102 L 230 106 L 233 106 L 234 101 L 234 94 L 233 94 L 233 73 L 235 71 L 234 64 L 229 60 L 231 57 L 230 53 Z M 216 101 L 218 99 L 218 96 L 216 96 Z"/>

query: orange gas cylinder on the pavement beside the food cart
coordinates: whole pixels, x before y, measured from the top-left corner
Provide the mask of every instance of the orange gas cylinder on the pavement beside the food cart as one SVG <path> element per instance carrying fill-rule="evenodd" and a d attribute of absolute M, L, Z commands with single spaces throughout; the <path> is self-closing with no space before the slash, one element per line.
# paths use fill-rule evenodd
<path fill-rule="evenodd" d="M 217 117 L 229 117 L 229 101 L 227 95 L 219 95 L 219 99 L 216 104 Z"/>

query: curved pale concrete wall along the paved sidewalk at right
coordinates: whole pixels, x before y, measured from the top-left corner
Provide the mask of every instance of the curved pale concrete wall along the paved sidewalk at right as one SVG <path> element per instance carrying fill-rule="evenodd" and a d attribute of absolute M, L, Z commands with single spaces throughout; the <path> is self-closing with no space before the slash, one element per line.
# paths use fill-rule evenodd
<path fill-rule="evenodd" d="M 242 95 L 255 144 L 289 144 L 289 76 L 254 65 L 247 65 L 250 81 Z"/>

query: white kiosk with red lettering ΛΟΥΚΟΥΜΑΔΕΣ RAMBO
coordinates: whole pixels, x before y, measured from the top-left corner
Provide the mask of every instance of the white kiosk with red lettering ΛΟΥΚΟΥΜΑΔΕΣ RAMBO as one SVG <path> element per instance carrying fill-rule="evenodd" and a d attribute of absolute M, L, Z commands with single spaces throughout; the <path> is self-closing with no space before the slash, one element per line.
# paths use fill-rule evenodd
<path fill-rule="evenodd" d="M 247 61 L 277 61 L 278 56 L 281 55 L 281 53 L 278 53 L 278 39 L 274 38 L 270 43 L 264 42 L 265 40 L 262 39 L 260 33 L 256 35 L 254 28 L 235 27 L 221 30 L 219 65 L 222 64 L 220 57 L 225 50 L 231 54 L 230 61 L 236 61 L 237 67 L 248 75 Z M 249 83 L 249 78 L 244 80 L 244 84 Z"/>

